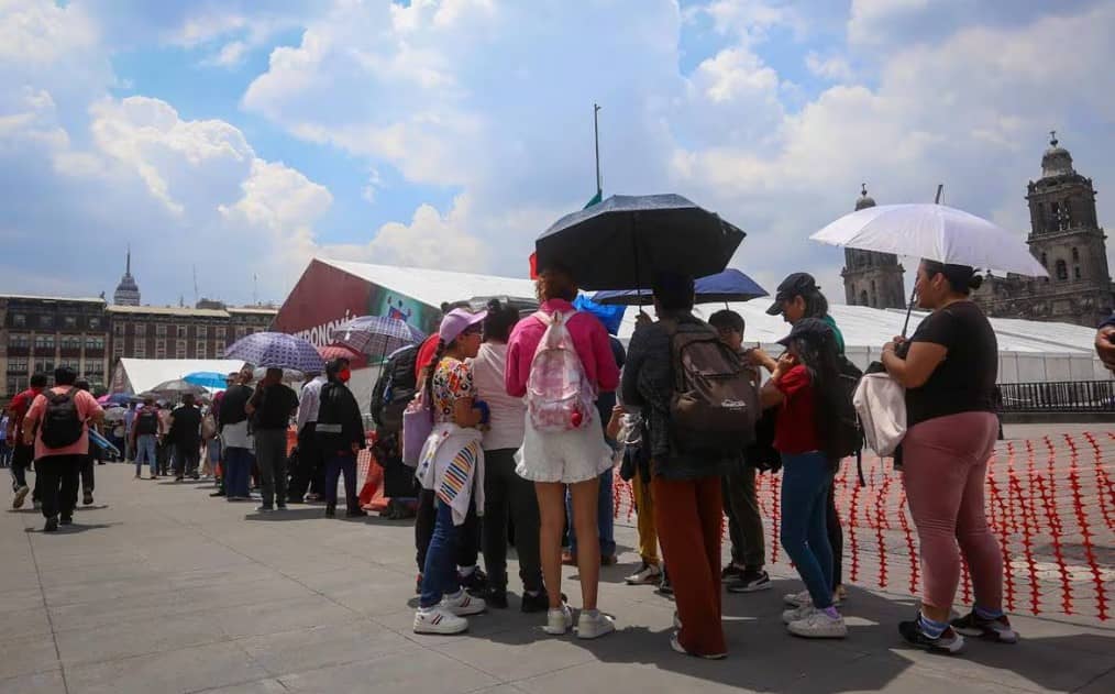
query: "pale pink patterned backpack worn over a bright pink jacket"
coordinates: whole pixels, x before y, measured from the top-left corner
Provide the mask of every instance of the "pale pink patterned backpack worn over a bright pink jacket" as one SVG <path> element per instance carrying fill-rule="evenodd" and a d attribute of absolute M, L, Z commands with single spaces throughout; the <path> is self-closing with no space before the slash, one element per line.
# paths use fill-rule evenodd
<path fill-rule="evenodd" d="M 526 409 L 537 432 L 568 432 L 592 421 L 595 388 L 584 374 L 584 366 L 565 327 L 576 311 L 539 311 L 534 318 L 546 327 L 526 379 Z"/>

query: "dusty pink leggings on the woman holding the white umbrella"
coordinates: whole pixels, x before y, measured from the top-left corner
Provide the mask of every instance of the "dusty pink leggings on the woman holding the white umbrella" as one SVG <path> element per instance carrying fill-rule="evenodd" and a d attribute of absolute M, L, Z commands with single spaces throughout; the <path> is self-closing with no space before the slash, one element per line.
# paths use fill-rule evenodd
<path fill-rule="evenodd" d="M 969 412 L 922 422 L 902 442 L 902 483 L 921 543 L 922 603 L 930 607 L 952 606 L 963 552 L 976 604 L 1002 608 L 1002 552 L 983 514 L 998 431 L 993 414 Z"/>

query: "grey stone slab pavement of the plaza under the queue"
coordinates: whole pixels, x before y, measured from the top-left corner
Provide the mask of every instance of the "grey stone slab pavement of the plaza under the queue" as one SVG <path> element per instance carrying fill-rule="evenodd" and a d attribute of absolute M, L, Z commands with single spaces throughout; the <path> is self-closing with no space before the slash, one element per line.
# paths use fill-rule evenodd
<path fill-rule="evenodd" d="M 797 589 L 787 575 L 725 598 L 727 661 L 678 655 L 671 603 L 622 584 L 638 560 L 626 527 L 600 599 L 620 633 L 552 638 L 513 598 L 468 635 L 417 636 L 408 522 L 327 520 L 321 507 L 256 515 L 209 491 L 109 464 L 69 529 L 0 512 L 0 693 L 1115 692 L 1115 625 L 1019 617 L 1017 646 L 933 656 L 898 639 L 909 598 L 853 589 L 851 636 L 805 642 L 779 620 Z M 563 588 L 579 604 L 569 576 Z"/>

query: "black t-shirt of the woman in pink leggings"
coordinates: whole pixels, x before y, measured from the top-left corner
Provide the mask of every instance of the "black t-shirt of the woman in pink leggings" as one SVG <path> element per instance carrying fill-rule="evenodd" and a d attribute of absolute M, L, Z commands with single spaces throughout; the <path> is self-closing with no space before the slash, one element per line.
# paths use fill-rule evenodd
<path fill-rule="evenodd" d="M 999 343 L 978 306 L 958 301 L 934 311 L 910 341 L 942 345 L 949 351 L 925 385 L 906 391 L 908 426 L 962 412 L 995 412 Z"/>

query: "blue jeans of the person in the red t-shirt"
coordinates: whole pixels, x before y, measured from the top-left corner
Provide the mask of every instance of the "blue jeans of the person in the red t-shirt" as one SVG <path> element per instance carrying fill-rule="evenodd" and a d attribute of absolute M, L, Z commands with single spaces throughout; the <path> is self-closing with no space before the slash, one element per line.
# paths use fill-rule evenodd
<path fill-rule="evenodd" d="M 833 550 L 825 526 L 832 480 L 824 453 L 783 453 L 782 546 L 817 609 L 833 604 Z"/>

